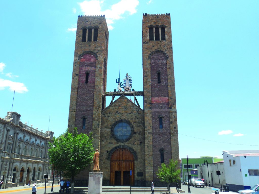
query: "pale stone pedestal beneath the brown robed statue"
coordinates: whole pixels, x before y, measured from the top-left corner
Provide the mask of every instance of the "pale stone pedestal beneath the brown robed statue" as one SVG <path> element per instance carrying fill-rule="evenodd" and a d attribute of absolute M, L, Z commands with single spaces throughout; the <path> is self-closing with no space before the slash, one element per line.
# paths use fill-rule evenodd
<path fill-rule="evenodd" d="M 103 185 L 103 173 L 89 173 L 88 194 L 101 194 Z"/>

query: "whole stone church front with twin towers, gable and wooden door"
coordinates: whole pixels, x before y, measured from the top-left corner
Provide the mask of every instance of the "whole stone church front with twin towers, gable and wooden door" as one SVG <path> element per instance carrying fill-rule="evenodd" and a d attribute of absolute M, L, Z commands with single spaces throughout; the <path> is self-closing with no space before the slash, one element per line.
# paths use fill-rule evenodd
<path fill-rule="evenodd" d="M 108 43 L 105 16 L 78 16 L 68 128 L 93 132 L 103 185 L 150 185 L 161 163 L 179 160 L 170 14 L 143 14 L 143 91 L 106 92 Z M 88 185 L 89 171 L 75 185 Z"/>

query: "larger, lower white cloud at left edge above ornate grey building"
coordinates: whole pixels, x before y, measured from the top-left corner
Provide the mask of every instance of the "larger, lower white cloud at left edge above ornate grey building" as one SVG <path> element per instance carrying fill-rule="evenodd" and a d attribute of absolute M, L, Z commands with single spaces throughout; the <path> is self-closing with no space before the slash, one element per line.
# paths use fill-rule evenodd
<path fill-rule="evenodd" d="M 18 93 L 28 92 L 27 87 L 23 83 L 0 78 L 0 90 L 4 90 L 6 87 L 9 87 L 10 91 L 15 90 Z"/>

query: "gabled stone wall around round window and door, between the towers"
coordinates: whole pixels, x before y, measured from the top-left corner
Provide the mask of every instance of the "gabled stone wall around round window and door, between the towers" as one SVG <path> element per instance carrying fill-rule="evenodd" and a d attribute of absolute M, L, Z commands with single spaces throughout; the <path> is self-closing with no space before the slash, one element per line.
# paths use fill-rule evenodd
<path fill-rule="evenodd" d="M 111 134 L 113 123 L 121 119 L 128 120 L 134 128 L 133 137 L 124 142 L 116 141 Z M 134 162 L 135 186 L 145 185 L 145 136 L 144 136 L 144 113 L 141 108 L 121 96 L 110 106 L 102 111 L 101 125 L 101 142 L 100 142 L 100 170 L 103 172 L 103 185 L 109 185 L 110 180 L 110 160 L 108 155 L 116 146 L 131 147 L 138 157 Z M 150 147 L 152 149 L 152 147 Z M 137 173 L 142 172 L 143 176 L 138 177 Z"/>

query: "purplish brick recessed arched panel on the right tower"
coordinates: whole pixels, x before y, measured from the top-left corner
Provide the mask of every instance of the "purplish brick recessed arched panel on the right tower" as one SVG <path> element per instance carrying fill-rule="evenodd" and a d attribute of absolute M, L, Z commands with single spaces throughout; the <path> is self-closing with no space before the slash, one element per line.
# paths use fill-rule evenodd
<path fill-rule="evenodd" d="M 171 158 L 170 115 L 168 99 L 167 59 L 163 53 L 154 53 L 150 57 L 152 135 L 153 135 L 153 179 L 158 181 L 156 172 L 161 166 L 160 149 L 164 150 L 164 163 Z M 161 83 L 157 81 L 160 72 Z M 163 129 L 159 128 L 159 117 L 162 116 Z"/>

